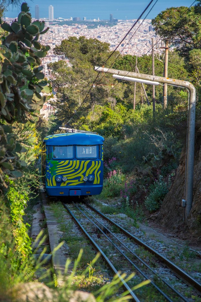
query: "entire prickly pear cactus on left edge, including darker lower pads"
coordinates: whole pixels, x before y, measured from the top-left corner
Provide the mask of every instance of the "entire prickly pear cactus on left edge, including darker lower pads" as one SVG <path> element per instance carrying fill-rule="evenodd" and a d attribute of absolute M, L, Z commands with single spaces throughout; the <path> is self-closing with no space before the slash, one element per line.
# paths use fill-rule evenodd
<path fill-rule="evenodd" d="M 38 120 L 47 99 L 41 92 L 50 92 L 40 59 L 50 47 L 38 41 L 49 28 L 44 30 L 44 21 L 32 22 L 27 3 L 21 5 L 18 18 L 11 24 L 0 18 L 0 26 L 2 32 L 9 32 L 0 37 L 0 183 L 5 185 L 3 175 L 20 177 L 19 170 L 26 165 L 17 155 L 25 150 L 8 124 Z"/>

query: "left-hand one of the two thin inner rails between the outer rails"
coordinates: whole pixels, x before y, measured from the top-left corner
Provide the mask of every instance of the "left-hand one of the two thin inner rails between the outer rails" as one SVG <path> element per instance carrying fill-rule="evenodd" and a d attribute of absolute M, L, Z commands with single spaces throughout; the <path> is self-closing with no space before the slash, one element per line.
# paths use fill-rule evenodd
<path fill-rule="evenodd" d="M 124 252 L 105 234 L 105 232 L 103 231 L 103 230 L 101 230 L 101 228 L 99 228 L 99 226 L 97 226 L 97 224 L 96 223 L 94 223 L 86 214 L 84 214 L 84 212 L 75 204 L 75 203 L 73 203 L 74 204 L 74 206 L 75 207 L 77 207 L 77 209 L 91 222 L 91 223 L 93 223 L 93 225 L 94 226 L 96 226 L 96 229 L 98 229 L 108 240 L 109 240 L 109 242 L 121 253 L 121 255 L 123 255 L 124 256 L 124 258 L 126 258 L 126 260 L 128 261 L 128 262 L 130 262 L 130 264 L 131 265 L 133 265 L 134 266 L 134 268 L 145 278 L 145 279 L 148 279 L 148 280 L 150 280 L 149 279 L 149 277 L 145 274 L 145 273 L 143 273 L 143 271 L 141 271 L 141 269 L 140 268 L 138 268 L 137 267 L 137 265 L 135 265 L 134 263 L 133 263 L 133 261 L 132 260 L 130 260 L 125 254 L 124 254 Z M 152 284 L 155 288 L 156 288 L 156 290 L 157 291 L 159 291 L 159 293 L 162 295 L 162 296 L 164 296 L 165 297 L 165 299 L 166 300 L 168 300 L 169 302 L 173 302 L 153 281 L 151 281 L 150 280 L 150 284 Z"/>

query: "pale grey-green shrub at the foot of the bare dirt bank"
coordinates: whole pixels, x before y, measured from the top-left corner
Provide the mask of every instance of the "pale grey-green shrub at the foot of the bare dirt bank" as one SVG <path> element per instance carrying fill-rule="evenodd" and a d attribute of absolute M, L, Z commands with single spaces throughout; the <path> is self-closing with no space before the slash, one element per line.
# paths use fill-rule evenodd
<path fill-rule="evenodd" d="M 170 176 L 171 177 L 171 176 Z M 169 178 L 170 183 L 170 178 Z M 145 199 L 145 206 L 150 213 L 159 209 L 165 195 L 168 193 L 168 184 L 164 182 L 163 176 L 159 176 L 159 181 L 155 180 L 153 188 Z"/>

